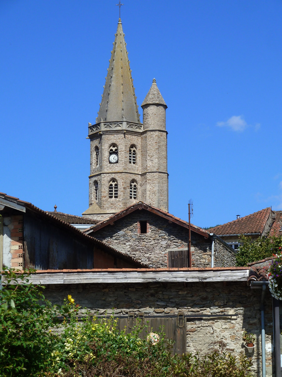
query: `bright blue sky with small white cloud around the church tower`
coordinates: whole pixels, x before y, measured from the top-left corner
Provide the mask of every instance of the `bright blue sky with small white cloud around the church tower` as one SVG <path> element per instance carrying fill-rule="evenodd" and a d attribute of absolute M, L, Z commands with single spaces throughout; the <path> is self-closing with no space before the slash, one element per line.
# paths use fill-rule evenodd
<path fill-rule="evenodd" d="M 95 123 L 117 0 L 0 1 L 0 191 L 88 208 Z M 123 1 L 139 112 L 168 105 L 169 211 L 201 227 L 282 209 L 282 1 Z"/>

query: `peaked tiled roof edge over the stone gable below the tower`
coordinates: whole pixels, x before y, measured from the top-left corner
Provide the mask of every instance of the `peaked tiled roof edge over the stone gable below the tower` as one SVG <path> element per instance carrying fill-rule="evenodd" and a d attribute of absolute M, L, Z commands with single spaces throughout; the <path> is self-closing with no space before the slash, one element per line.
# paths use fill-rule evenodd
<path fill-rule="evenodd" d="M 138 203 L 130 205 L 129 207 L 125 208 L 122 211 L 115 213 L 115 215 L 109 217 L 106 220 L 98 222 L 96 225 L 93 225 L 89 229 L 85 229 L 85 232 L 86 232 L 86 234 L 90 234 L 91 232 L 99 230 L 99 229 L 105 227 L 106 225 L 111 224 L 112 222 L 114 222 L 114 221 L 116 221 L 120 218 L 123 218 L 126 215 L 129 215 L 129 213 L 132 213 L 133 211 L 135 211 L 137 209 L 145 209 L 147 211 L 150 211 L 151 213 L 155 213 L 155 215 L 158 215 L 158 216 L 161 216 L 161 217 L 167 219 L 168 221 L 174 222 L 175 224 L 184 226 L 185 228 L 189 227 L 189 223 L 187 221 L 181 220 L 179 217 L 173 216 L 173 215 L 171 215 L 171 213 L 168 213 L 167 211 L 163 211 L 160 208 L 153 207 L 152 205 L 149 205 L 149 204 L 146 204 L 146 203 L 140 201 Z M 204 237 L 208 238 L 209 233 L 211 233 L 209 230 L 202 229 L 200 227 L 197 227 L 194 224 L 190 223 L 190 225 L 191 225 L 191 231 L 199 233 Z"/>

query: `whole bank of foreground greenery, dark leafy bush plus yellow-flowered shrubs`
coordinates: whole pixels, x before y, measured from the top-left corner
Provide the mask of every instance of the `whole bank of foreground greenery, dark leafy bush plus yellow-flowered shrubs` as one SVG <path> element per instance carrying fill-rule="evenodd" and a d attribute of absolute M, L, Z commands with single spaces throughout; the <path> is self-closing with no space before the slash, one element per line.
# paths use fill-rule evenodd
<path fill-rule="evenodd" d="M 0 291 L 1 377 L 251 377 L 251 361 L 212 351 L 200 357 L 171 355 L 173 341 L 161 331 L 140 339 L 142 327 L 119 331 L 110 316 L 98 320 L 86 311 L 82 322 L 79 305 L 68 295 L 64 305 L 52 306 L 42 288 L 30 284 L 34 270 L 17 273 L 4 269 Z M 64 319 L 56 333 L 58 316 Z M 146 326 L 145 326 L 146 327 Z M 156 331 L 156 329 L 155 329 Z M 152 334 L 151 334 L 152 335 Z M 146 338 L 146 337 L 145 337 Z"/>

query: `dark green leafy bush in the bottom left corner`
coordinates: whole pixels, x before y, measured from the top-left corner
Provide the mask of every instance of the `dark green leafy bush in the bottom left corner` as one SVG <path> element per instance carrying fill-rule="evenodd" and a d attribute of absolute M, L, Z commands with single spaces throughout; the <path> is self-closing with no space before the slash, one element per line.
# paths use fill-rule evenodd
<path fill-rule="evenodd" d="M 4 268 L 0 291 L 0 375 L 36 376 L 56 369 L 58 335 L 50 329 L 58 314 L 68 311 L 45 300 L 42 288 L 29 283 L 26 270 Z"/>

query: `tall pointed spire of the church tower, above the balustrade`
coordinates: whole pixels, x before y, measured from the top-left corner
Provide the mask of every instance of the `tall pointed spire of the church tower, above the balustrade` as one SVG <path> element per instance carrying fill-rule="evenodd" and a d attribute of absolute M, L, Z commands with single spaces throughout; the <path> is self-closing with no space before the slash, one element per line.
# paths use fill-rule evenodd
<path fill-rule="evenodd" d="M 118 20 L 106 84 L 100 103 L 96 123 L 107 121 L 128 121 L 140 123 L 140 115 L 133 87 L 133 79 L 127 57 L 126 43 Z"/>

